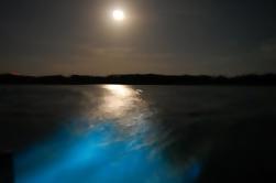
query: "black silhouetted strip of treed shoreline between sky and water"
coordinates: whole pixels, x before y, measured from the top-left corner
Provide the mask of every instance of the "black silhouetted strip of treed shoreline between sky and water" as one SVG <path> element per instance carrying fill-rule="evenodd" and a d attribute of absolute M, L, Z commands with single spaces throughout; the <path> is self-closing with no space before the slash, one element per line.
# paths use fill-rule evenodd
<path fill-rule="evenodd" d="M 238 76 L 210 75 L 162 75 L 162 74 L 118 74 L 108 76 L 92 75 L 46 75 L 30 76 L 0 74 L 1 84 L 45 84 L 45 85 L 272 85 L 276 86 L 276 74 L 246 74 Z"/>

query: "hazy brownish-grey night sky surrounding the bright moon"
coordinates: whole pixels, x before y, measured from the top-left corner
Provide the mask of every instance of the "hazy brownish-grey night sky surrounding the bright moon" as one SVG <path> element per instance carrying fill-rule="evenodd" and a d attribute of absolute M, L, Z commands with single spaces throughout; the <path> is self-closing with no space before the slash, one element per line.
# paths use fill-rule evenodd
<path fill-rule="evenodd" d="M 275 0 L 1 0 L 0 73 L 274 73 L 275 9 Z"/>

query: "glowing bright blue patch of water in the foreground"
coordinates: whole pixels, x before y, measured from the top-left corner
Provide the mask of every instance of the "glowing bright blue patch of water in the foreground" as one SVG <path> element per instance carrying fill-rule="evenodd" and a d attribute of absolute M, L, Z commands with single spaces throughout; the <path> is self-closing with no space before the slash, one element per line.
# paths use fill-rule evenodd
<path fill-rule="evenodd" d="M 177 170 L 153 146 L 135 148 L 143 141 L 141 136 L 112 140 L 118 133 L 112 123 L 101 123 L 82 133 L 63 129 L 16 157 L 15 182 L 190 183 L 198 176 L 199 164 Z"/>

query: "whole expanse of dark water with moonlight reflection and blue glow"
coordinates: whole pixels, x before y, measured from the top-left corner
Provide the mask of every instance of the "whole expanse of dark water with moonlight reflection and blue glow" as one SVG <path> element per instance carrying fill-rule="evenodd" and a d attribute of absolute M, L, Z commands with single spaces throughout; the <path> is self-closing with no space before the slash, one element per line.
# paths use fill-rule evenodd
<path fill-rule="evenodd" d="M 0 86 L 16 183 L 275 180 L 276 87 Z"/>

